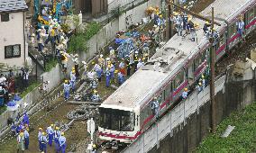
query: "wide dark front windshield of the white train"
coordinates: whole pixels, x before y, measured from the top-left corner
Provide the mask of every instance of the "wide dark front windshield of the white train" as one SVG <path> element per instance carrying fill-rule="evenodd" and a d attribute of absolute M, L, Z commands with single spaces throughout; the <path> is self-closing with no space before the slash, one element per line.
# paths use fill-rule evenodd
<path fill-rule="evenodd" d="M 117 131 L 133 131 L 135 125 L 134 112 L 99 108 L 101 128 Z"/>

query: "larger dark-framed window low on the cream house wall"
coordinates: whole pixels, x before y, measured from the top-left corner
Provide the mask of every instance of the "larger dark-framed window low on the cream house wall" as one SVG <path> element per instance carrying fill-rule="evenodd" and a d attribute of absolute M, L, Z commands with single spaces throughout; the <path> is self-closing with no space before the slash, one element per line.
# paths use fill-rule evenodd
<path fill-rule="evenodd" d="M 21 57 L 21 45 L 5 46 L 5 58 Z"/>

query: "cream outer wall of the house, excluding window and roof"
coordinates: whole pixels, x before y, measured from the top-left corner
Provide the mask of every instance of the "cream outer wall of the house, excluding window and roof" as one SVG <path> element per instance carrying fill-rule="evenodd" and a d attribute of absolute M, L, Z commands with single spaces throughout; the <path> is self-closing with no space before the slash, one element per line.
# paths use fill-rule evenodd
<path fill-rule="evenodd" d="M 27 49 L 24 50 L 23 12 L 11 13 L 9 14 L 9 19 L 9 22 L 0 23 L 0 62 L 11 67 L 23 67 L 25 58 L 28 56 Z M 21 57 L 5 58 L 5 46 L 16 44 L 21 45 Z"/>

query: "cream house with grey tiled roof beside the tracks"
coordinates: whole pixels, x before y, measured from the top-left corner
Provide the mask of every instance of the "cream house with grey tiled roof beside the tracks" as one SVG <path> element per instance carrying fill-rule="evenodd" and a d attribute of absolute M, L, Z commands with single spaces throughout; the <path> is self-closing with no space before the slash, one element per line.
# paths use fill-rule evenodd
<path fill-rule="evenodd" d="M 0 63 L 23 67 L 28 57 L 24 0 L 0 0 Z"/>

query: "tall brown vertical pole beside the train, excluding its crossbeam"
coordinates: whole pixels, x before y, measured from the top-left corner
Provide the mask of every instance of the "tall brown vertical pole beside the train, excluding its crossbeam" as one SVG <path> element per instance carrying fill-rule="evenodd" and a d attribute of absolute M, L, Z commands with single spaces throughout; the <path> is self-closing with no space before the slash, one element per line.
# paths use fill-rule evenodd
<path fill-rule="evenodd" d="M 215 9 L 212 7 L 212 36 L 211 36 L 211 44 L 212 44 L 212 49 L 211 49 L 211 62 L 210 62 L 210 67 L 211 67 L 211 79 L 210 79 L 210 97 L 211 97 L 211 117 L 212 117 L 212 131 L 215 133 L 215 46 L 213 45 L 214 43 L 214 28 L 215 28 Z"/>

